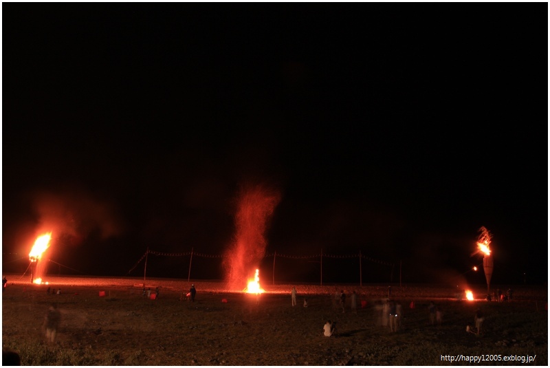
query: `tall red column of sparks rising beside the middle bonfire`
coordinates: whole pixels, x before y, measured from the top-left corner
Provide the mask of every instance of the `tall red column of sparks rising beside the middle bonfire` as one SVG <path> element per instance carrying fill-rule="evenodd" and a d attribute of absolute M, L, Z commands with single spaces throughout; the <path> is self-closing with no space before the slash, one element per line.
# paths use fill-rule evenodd
<path fill-rule="evenodd" d="M 265 230 L 280 195 L 262 186 L 241 190 L 235 214 L 235 240 L 227 251 L 225 279 L 228 288 L 245 290 L 254 279 L 256 265 L 265 254 Z"/>

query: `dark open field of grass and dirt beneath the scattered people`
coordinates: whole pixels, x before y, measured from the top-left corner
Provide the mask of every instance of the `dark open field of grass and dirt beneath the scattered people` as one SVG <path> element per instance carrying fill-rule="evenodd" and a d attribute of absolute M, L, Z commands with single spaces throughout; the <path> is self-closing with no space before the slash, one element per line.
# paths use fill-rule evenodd
<path fill-rule="evenodd" d="M 2 347 L 17 351 L 22 365 L 472 365 L 441 360 L 459 354 L 496 359 L 481 365 L 524 365 L 498 356 L 535 355 L 528 365 L 548 364 L 545 286 L 516 286 L 514 301 L 497 303 L 481 299 L 483 285 L 474 289 L 475 301 L 457 300 L 452 288 L 393 285 L 404 316 L 401 329 L 390 332 L 380 311 L 387 285 L 296 285 L 292 307 L 293 285 L 262 285 L 266 293 L 257 297 L 193 281 L 191 303 L 180 301 L 190 287 L 182 280 L 148 279 L 146 288 L 160 287 L 151 300 L 139 278 L 49 277 L 50 285 L 18 278 L 8 275 L 3 292 Z M 48 286 L 61 295 L 47 294 Z M 337 290 L 355 290 L 366 306 L 355 314 L 348 297 L 342 313 L 333 302 Z M 440 326 L 428 322 L 430 301 L 443 310 Z M 49 345 L 41 327 L 53 302 L 62 321 Z M 485 314 L 480 336 L 466 332 L 477 308 Z M 338 321 L 337 338 L 322 336 L 328 319 Z"/>

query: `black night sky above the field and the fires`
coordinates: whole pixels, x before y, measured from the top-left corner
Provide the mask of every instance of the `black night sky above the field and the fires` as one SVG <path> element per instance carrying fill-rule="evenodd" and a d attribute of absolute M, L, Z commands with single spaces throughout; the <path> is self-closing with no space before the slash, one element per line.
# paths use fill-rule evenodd
<path fill-rule="evenodd" d="M 54 274 L 123 276 L 147 247 L 221 255 L 260 186 L 281 198 L 266 254 L 361 251 L 364 283 L 399 281 L 400 261 L 406 283 L 485 283 L 469 271 L 485 226 L 495 285 L 547 283 L 547 4 L 2 10 L 4 272 L 45 230 Z M 150 255 L 147 274 L 188 262 Z M 325 282 L 358 282 L 358 259 L 324 262 Z"/>

